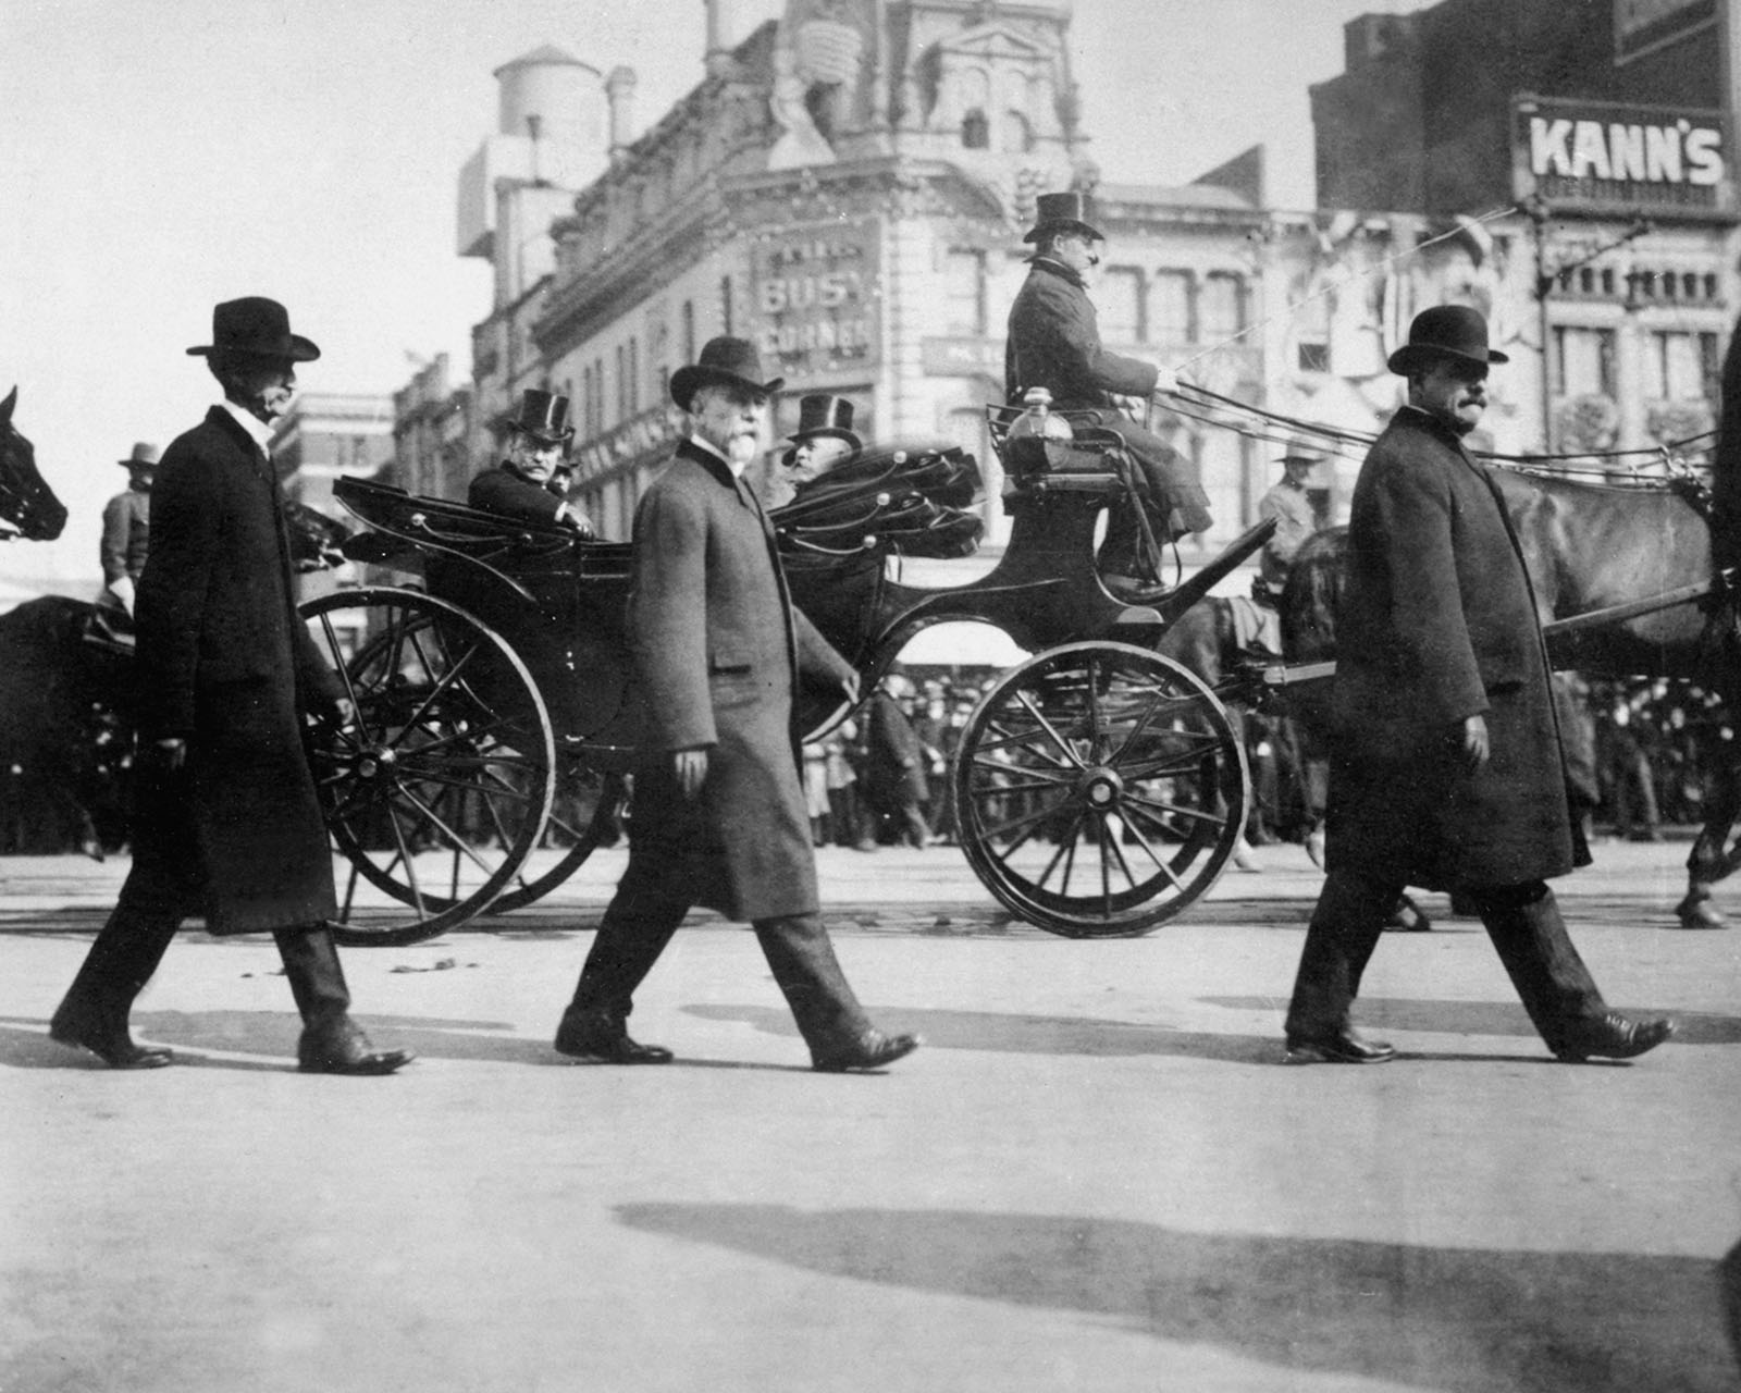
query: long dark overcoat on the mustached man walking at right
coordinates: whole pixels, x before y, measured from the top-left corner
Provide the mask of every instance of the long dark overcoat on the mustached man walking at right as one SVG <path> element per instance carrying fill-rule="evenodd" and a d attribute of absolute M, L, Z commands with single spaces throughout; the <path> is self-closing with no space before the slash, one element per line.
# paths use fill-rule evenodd
<path fill-rule="evenodd" d="M 1483 467 L 1424 411 L 1396 413 L 1354 484 L 1337 646 L 1332 871 L 1443 890 L 1588 862 L 1523 554 Z M 1489 731 L 1476 773 L 1468 716 Z"/>

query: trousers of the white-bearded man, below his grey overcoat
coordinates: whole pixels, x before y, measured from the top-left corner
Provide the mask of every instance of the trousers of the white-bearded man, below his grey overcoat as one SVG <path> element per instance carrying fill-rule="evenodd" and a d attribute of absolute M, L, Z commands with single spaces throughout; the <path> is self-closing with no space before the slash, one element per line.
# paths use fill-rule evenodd
<path fill-rule="evenodd" d="M 635 987 L 691 909 L 688 895 L 674 893 L 669 885 L 656 871 L 637 867 L 630 855 L 629 871 L 599 921 L 599 933 L 580 970 L 569 1019 L 590 1017 L 609 1031 L 622 1029 L 629 1020 Z M 785 914 L 757 919 L 752 926 L 797 1033 L 813 1055 L 837 1053 L 870 1029 L 820 914 Z"/>

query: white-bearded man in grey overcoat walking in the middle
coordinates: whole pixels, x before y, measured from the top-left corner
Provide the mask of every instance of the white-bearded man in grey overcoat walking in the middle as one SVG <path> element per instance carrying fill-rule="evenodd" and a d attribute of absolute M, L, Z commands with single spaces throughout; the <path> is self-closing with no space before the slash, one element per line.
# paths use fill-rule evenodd
<path fill-rule="evenodd" d="M 555 1034 L 575 1059 L 670 1059 L 627 1020 L 696 904 L 754 925 L 817 1069 L 879 1069 L 919 1043 L 870 1026 L 818 912 L 794 693 L 811 679 L 857 700 L 858 679 L 792 606 L 743 484 L 780 385 L 736 338 L 709 341 L 670 380 L 691 435 L 635 508 L 627 632 L 642 730 L 629 867 Z"/>

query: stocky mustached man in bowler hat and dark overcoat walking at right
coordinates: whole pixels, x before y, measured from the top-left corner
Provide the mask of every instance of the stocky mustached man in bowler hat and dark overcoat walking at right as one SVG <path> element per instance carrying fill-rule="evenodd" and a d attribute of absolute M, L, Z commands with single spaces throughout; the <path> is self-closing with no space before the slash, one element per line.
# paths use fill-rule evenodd
<path fill-rule="evenodd" d="M 1330 747 L 1328 876 L 1287 1017 L 1288 1062 L 1375 1064 L 1349 1024 L 1405 885 L 1459 892 L 1560 1059 L 1628 1059 L 1668 1020 L 1596 991 L 1548 879 L 1590 862 L 1572 824 L 1548 651 L 1516 535 L 1462 437 L 1487 404 L 1487 320 L 1424 310 L 1389 360 L 1408 404 L 1354 484 Z"/>

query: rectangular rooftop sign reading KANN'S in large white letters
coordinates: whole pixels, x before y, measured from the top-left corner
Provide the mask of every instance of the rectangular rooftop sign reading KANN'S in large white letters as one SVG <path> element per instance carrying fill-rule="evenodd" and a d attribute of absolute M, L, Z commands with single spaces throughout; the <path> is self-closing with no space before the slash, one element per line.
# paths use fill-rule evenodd
<path fill-rule="evenodd" d="M 1555 211 L 1732 216 L 1734 146 L 1722 111 L 1518 98 L 1513 193 Z"/>

